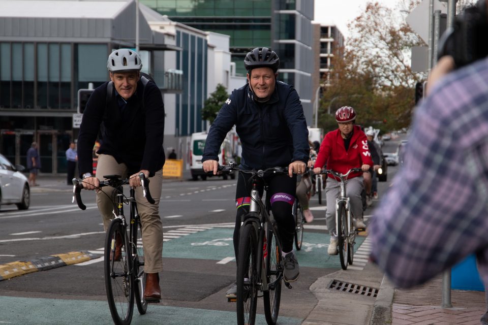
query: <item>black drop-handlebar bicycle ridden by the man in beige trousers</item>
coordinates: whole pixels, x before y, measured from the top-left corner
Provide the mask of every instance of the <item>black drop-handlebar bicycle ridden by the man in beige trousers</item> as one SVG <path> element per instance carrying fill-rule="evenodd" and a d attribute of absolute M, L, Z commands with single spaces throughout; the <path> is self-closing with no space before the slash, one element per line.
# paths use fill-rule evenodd
<path fill-rule="evenodd" d="M 106 181 L 100 182 L 100 188 L 111 186 L 112 202 L 114 202 L 114 218 L 105 236 L 105 289 L 107 291 L 108 306 L 116 325 L 129 325 L 134 310 L 134 300 L 141 315 L 146 313 L 147 301 L 144 300 L 146 274 L 144 273 L 144 252 L 142 247 L 141 221 L 137 213 L 135 190 L 130 189 L 129 197 L 124 196 L 123 185 L 129 184 L 129 179 L 121 179 L 120 175 L 105 175 Z M 149 192 L 149 180 L 143 173 L 139 173 L 143 186 L 143 194 L 147 201 L 155 201 Z M 86 206 L 81 201 L 82 180 L 73 179 L 73 201 L 81 210 Z M 129 224 L 124 216 L 124 204 L 129 204 Z M 127 228 L 129 227 L 129 234 Z M 159 301 L 151 301 L 159 302 Z"/>

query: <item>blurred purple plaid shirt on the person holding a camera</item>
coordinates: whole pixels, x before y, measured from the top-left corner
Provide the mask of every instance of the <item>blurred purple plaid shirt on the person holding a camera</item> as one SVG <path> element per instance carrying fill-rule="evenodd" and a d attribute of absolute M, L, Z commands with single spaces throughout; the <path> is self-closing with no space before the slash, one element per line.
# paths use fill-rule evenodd
<path fill-rule="evenodd" d="M 488 59 L 448 74 L 417 108 L 404 166 L 372 220 L 372 257 L 396 285 L 474 252 L 488 283 Z"/>

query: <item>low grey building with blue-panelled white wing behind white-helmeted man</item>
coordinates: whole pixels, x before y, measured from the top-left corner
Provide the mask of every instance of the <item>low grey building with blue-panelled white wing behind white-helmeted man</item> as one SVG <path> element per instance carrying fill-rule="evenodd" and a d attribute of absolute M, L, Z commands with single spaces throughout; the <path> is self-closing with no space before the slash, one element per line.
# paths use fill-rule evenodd
<path fill-rule="evenodd" d="M 165 142 L 202 131 L 207 35 L 139 9 L 142 71 L 164 96 Z M 37 141 L 41 173 L 65 173 L 65 151 L 78 133 L 78 89 L 109 80 L 108 54 L 135 49 L 135 33 L 134 0 L 0 0 L 0 153 L 25 165 Z"/>

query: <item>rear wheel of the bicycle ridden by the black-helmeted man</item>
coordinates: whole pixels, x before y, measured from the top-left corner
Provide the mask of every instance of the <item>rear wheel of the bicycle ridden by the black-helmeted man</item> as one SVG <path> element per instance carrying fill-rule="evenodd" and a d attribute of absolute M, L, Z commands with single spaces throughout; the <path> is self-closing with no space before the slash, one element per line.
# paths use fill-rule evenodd
<path fill-rule="evenodd" d="M 264 316 L 268 325 L 275 325 L 280 311 L 283 262 L 277 235 L 269 229 L 266 238 L 265 263 L 268 290 L 263 291 Z"/>

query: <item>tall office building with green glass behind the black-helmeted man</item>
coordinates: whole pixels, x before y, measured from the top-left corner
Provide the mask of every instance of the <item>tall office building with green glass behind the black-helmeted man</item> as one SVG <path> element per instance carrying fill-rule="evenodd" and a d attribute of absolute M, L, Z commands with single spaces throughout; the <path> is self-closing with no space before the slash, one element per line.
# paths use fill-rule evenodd
<path fill-rule="evenodd" d="M 140 0 L 169 19 L 200 30 L 230 36 L 236 72 L 244 75 L 243 59 L 252 48 L 266 46 L 280 56 L 279 79 L 298 91 L 309 125 L 312 123 L 313 0 Z M 229 92 L 232 89 L 229 89 Z"/>

